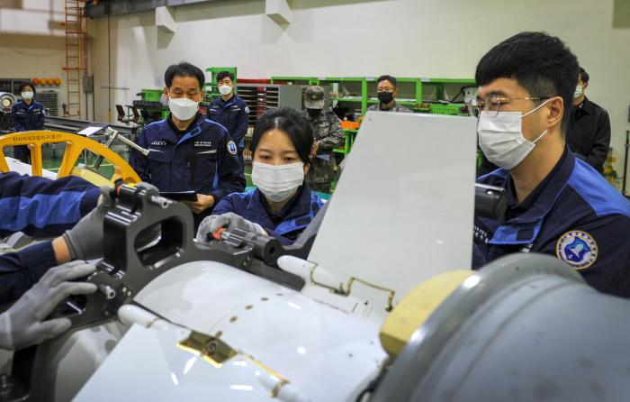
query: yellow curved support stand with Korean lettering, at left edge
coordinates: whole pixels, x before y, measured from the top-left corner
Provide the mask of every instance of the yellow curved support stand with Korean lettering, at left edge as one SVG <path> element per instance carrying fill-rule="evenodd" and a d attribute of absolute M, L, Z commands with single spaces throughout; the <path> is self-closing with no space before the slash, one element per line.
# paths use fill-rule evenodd
<path fill-rule="evenodd" d="M 112 185 L 114 181 L 120 178 L 125 183 L 139 183 L 142 181 L 133 168 L 130 167 L 129 163 L 122 159 L 119 154 L 103 146 L 100 142 L 95 142 L 82 135 L 69 132 L 31 131 L 14 132 L 13 134 L 0 136 L 0 171 L 4 173 L 9 171 L 9 165 L 6 163 L 6 158 L 4 157 L 5 147 L 27 145 L 31 150 L 31 175 L 41 176 L 43 169 L 41 146 L 46 143 L 59 142 L 66 143 L 66 152 L 64 153 L 63 160 L 61 160 L 61 166 L 57 173 L 58 178 L 69 175 L 81 176 L 94 183 L 96 186 L 102 186 L 103 184 Z M 89 169 L 76 168 L 76 161 L 85 150 L 103 156 L 105 160 L 108 160 L 112 164 L 115 171 L 112 178 L 105 178 L 100 173 Z"/>

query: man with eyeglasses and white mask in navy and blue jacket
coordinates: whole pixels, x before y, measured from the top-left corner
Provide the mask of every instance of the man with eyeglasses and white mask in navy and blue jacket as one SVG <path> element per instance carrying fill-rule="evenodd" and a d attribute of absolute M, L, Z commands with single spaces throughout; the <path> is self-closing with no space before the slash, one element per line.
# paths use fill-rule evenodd
<path fill-rule="evenodd" d="M 508 210 L 475 216 L 473 268 L 542 252 L 593 288 L 628 297 L 630 203 L 565 142 L 578 71 L 571 50 L 543 32 L 518 33 L 477 65 L 479 145 L 500 167 L 477 181 L 505 188 Z"/>

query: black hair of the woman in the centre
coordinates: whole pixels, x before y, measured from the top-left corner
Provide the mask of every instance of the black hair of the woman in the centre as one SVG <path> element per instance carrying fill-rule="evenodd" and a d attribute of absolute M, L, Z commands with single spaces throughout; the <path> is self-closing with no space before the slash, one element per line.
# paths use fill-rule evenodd
<path fill-rule="evenodd" d="M 311 151 L 315 142 L 311 123 L 302 113 L 290 107 L 271 109 L 258 117 L 249 150 L 252 153 L 256 151 L 263 134 L 274 129 L 285 132 L 293 142 L 302 162 L 305 165 L 311 164 Z"/>

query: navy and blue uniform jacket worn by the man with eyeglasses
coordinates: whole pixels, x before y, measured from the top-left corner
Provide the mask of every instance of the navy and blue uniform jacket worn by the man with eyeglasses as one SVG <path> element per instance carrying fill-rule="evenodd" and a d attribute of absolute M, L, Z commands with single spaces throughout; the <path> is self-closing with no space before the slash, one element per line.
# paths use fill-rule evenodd
<path fill-rule="evenodd" d="M 630 202 L 568 147 L 521 203 L 505 169 L 477 182 L 504 187 L 509 208 L 500 220 L 475 217 L 473 268 L 512 252 L 552 254 L 593 288 L 630 297 Z"/>

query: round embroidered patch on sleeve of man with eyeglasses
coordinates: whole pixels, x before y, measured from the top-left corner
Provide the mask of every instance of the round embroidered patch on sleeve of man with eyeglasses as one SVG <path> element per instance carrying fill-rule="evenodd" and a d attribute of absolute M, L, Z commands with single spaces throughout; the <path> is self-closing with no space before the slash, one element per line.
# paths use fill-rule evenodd
<path fill-rule="evenodd" d="M 574 269 L 583 270 L 598 259 L 598 243 L 589 233 L 571 231 L 560 236 L 555 244 L 555 253 Z"/>

